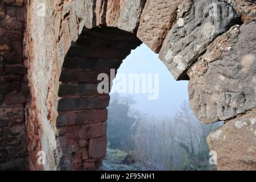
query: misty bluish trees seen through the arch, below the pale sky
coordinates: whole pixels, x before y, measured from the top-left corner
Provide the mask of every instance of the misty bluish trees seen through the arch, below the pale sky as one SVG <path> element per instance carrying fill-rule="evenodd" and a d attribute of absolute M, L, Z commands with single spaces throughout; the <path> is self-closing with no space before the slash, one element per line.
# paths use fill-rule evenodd
<path fill-rule="evenodd" d="M 154 117 L 133 110 L 133 98 L 111 96 L 108 147 L 127 152 L 146 170 L 215 170 L 209 164 L 206 137 L 220 123 L 203 125 L 187 102 L 173 117 Z"/>

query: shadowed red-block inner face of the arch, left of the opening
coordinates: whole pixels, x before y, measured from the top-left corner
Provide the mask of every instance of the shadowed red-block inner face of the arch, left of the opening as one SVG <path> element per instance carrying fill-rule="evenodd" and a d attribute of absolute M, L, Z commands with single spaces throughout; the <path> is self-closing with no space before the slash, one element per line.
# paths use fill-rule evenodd
<path fill-rule="evenodd" d="M 106 155 L 109 94 L 99 94 L 100 73 L 110 76 L 141 41 L 118 28 L 83 30 L 65 57 L 58 96 L 59 169 L 99 169 Z M 111 82 L 112 80 L 110 80 Z"/>

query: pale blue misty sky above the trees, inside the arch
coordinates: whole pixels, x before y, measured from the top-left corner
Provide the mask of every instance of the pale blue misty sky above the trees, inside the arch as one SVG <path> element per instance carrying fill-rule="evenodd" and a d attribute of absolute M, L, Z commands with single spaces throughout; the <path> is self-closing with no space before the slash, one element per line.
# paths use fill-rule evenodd
<path fill-rule="evenodd" d="M 184 101 L 188 101 L 187 84 L 188 81 L 175 81 L 166 66 L 158 58 L 158 54 L 151 51 L 145 44 L 133 50 L 129 56 L 123 60 L 119 73 L 158 73 L 159 74 L 159 98 L 149 100 L 148 94 L 120 94 L 121 96 L 132 96 L 136 102 L 134 109 L 142 113 L 152 115 L 175 114 L 175 110 Z M 117 75 L 114 85 L 121 77 Z M 111 90 L 113 93 L 113 90 Z M 113 97 L 113 96 L 112 96 Z"/>

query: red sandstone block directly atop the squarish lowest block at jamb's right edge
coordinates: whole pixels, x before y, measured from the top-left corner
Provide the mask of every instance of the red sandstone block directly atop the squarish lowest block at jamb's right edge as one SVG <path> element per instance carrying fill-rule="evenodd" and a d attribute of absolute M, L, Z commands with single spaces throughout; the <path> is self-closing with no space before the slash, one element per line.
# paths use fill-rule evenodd
<path fill-rule="evenodd" d="M 89 139 L 98 138 L 107 134 L 107 122 L 93 123 L 82 126 L 78 131 L 79 138 Z"/>

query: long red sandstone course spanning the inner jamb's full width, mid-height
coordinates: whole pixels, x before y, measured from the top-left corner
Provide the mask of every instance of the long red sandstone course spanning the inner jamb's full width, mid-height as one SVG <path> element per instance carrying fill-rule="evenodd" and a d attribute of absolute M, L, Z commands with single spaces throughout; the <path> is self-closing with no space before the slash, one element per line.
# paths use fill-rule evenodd
<path fill-rule="evenodd" d="M 81 125 L 107 120 L 107 109 L 83 110 L 59 113 L 57 126 Z"/>

